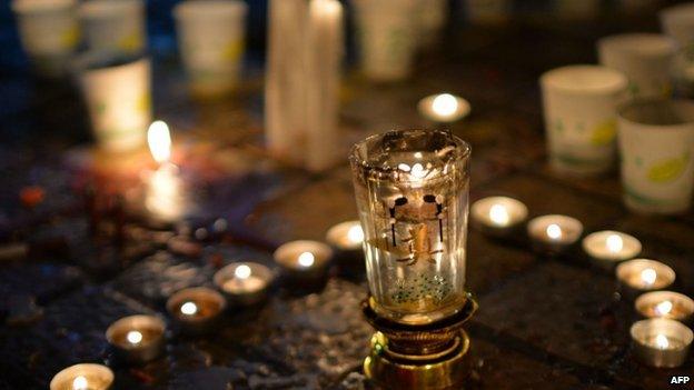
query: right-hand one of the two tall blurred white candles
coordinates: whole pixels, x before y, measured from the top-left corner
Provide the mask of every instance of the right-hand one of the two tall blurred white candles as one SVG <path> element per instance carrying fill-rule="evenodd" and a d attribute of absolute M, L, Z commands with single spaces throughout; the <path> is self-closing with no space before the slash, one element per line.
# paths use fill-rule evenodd
<path fill-rule="evenodd" d="M 307 48 L 306 168 L 320 171 L 338 159 L 338 88 L 343 58 L 343 6 L 311 0 Z"/>

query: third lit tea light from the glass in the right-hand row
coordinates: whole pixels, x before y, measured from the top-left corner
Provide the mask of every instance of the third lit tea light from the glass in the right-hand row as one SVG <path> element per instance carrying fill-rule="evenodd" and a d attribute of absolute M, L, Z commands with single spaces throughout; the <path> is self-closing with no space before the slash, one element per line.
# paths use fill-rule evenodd
<path fill-rule="evenodd" d="M 598 261 L 615 263 L 633 259 L 641 253 L 641 241 L 618 231 L 603 230 L 583 239 L 583 250 Z"/>

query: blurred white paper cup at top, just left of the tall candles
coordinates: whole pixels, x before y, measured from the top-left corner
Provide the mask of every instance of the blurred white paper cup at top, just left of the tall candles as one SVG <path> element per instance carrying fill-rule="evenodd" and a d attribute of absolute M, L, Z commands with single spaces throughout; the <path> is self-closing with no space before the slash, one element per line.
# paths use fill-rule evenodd
<path fill-rule="evenodd" d="M 219 96 L 237 84 L 248 7 L 238 0 L 189 0 L 174 9 L 178 43 L 198 96 Z"/>

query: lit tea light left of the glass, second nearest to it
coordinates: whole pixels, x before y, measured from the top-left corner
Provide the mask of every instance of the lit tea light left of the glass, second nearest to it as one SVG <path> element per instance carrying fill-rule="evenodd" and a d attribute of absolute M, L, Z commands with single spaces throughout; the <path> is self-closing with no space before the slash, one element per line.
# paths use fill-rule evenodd
<path fill-rule="evenodd" d="M 274 258 L 289 281 L 319 281 L 326 277 L 333 249 L 318 241 L 290 241 L 277 248 Z"/>

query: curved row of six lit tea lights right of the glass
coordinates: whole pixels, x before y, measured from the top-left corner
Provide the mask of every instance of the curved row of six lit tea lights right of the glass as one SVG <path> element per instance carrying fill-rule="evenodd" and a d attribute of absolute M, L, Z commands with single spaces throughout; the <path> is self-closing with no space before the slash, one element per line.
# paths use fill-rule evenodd
<path fill-rule="evenodd" d="M 504 237 L 524 224 L 528 209 L 513 198 L 489 197 L 473 203 L 470 214 L 479 230 Z M 527 223 L 533 247 L 551 253 L 568 249 L 582 233 L 581 221 L 567 216 L 542 216 Z M 682 366 L 694 339 L 692 330 L 682 322 L 692 320 L 694 300 L 674 291 L 653 291 L 672 286 L 675 271 L 660 261 L 634 259 L 641 253 L 641 242 L 618 231 L 591 233 L 583 239 L 582 247 L 602 267 L 621 262 L 615 274 L 631 296 L 651 291 L 640 296 L 634 303 L 636 311 L 646 318 L 631 328 L 636 356 L 653 367 Z"/>

